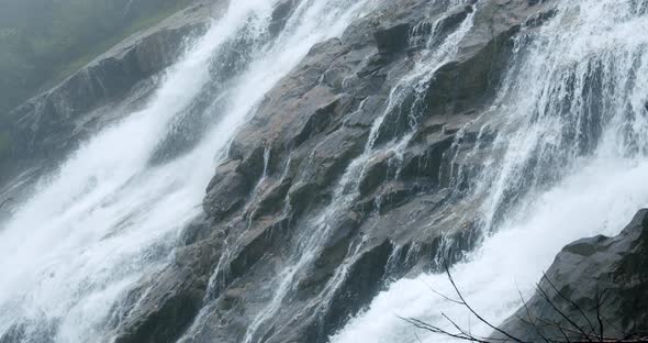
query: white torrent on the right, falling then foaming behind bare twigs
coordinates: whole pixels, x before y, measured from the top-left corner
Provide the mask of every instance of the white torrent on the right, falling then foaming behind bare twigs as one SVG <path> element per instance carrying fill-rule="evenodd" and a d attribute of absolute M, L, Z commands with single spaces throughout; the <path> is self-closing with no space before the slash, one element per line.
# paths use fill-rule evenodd
<path fill-rule="evenodd" d="M 494 233 L 451 269 L 468 302 L 495 324 L 519 308 L 517 289 L 528 299 L 563 245 L 615 234 L 648 206 L 647 3 L 559 7 L 541 32 L 528 33 L 530 42 L 518 42 L 516 66 L 490 114 L 501 115 L 501 135 L 474 191 L 485 195 L 480 214 Z M 521 197 L 506 198 L 511 191 Z M 442 313 L 476 335 L 490 333 L 431 288 L 457 298 L 445 275 L 399 280 L 332 341 L 453 341 L 399 318 L 455 331 Z"/>

